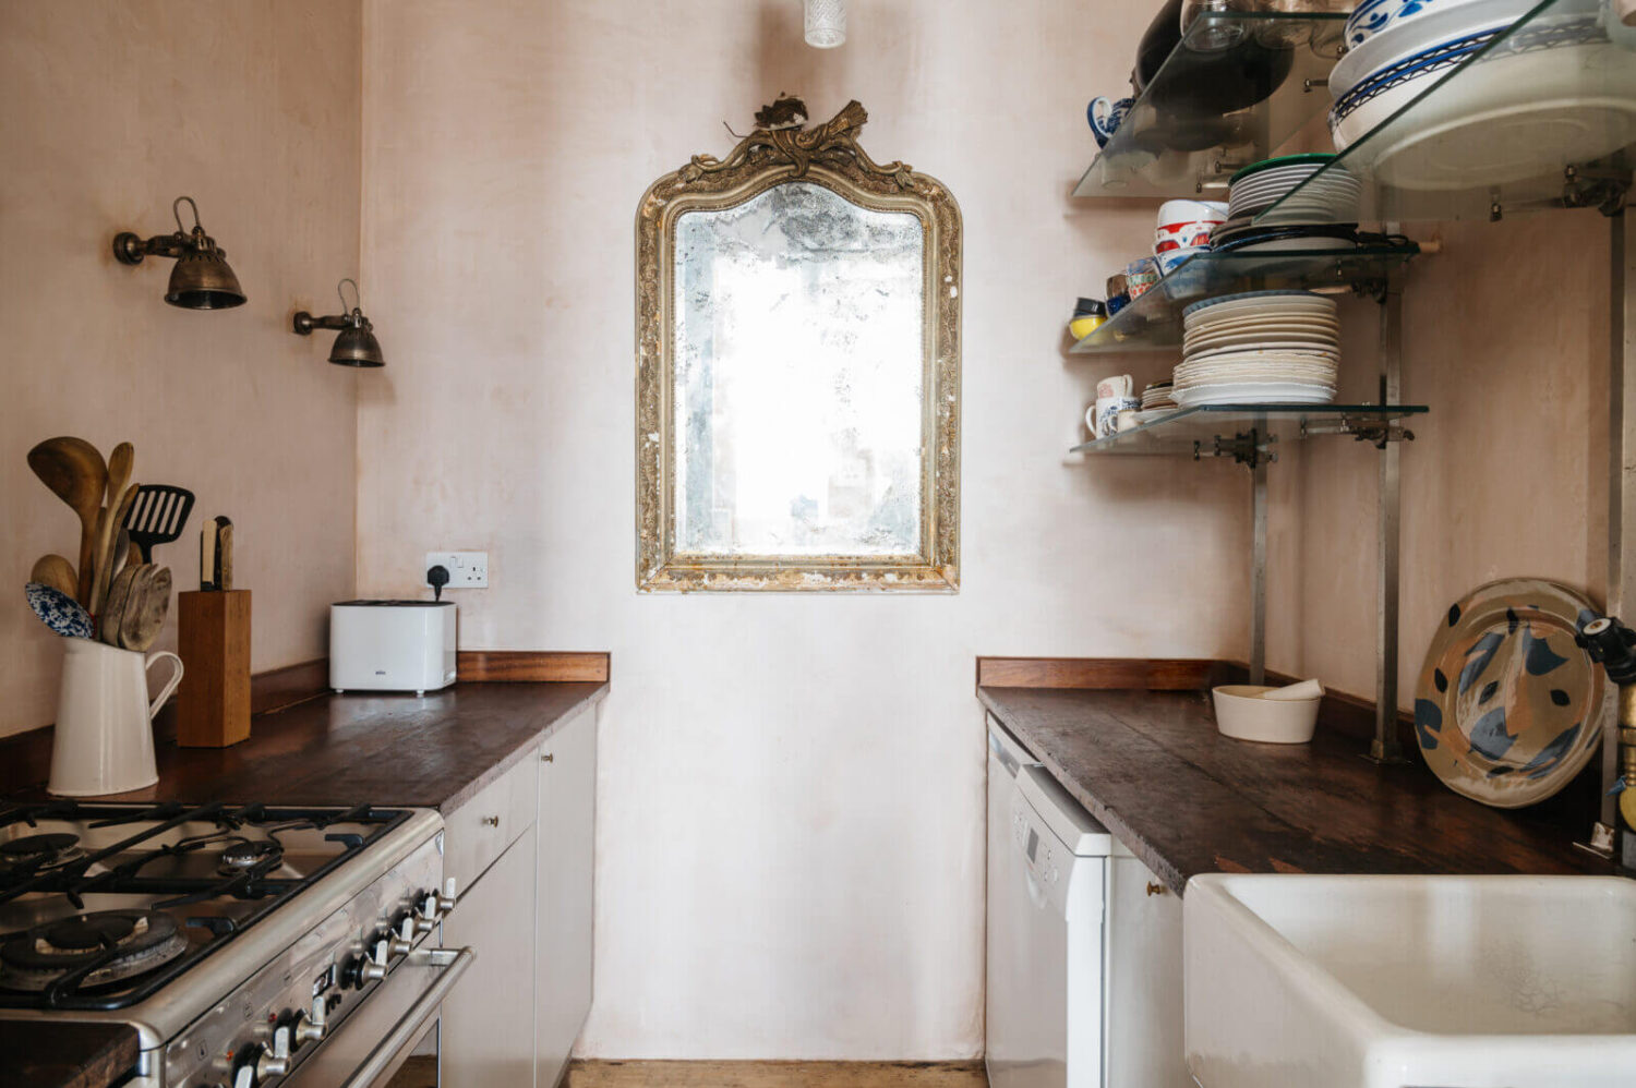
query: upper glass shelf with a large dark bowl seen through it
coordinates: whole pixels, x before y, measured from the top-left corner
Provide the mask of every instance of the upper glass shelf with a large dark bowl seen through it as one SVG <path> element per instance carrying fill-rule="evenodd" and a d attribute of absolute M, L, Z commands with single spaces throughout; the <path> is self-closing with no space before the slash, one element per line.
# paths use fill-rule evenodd
<path fill-rule="evenodd" d="M 1328 106 L 1345 13 L 1204 13 L 1137 98 L 1075 196 L 1219 190 Z M 1209 47 L 1212 41 L 1232 41 Z"/>

